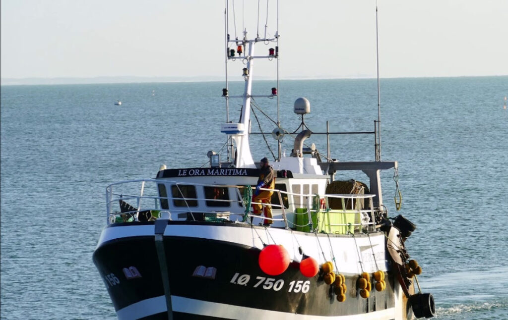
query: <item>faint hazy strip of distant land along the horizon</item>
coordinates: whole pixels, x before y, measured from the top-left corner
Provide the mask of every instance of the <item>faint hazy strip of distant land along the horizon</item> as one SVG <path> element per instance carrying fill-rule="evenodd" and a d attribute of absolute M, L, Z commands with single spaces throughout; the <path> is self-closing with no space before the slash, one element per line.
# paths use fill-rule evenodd
<path fill-rule="evenodd" d="M 393 77 L 381 79 L 426 79 L 426 78 L 487 78 L 487 77 L 508 77 L 508 75 L 491 76 L 434 76 L 434 77 Z M 350 77 L 288 77 L 282 81 L 293 80 L 365 80 L 375 79 L 372 76 L 350 76 Z M 274 80 L 268 77 L 259 77 L 258 80 Z M 2 86 L 23 86 L 23 85 L 81 85 L 81 84 L 128 84 L 128 83 L 184 83 L 184 82 L 224 82 L 224 77 L 94 77 L 94 78 L 2 78 Z M 231 80 L 230 80 L 231 81 Z M 234 81 L 234 80 L 233 80 Z M 238 81 L 242 81 L 239 79 Z"/>

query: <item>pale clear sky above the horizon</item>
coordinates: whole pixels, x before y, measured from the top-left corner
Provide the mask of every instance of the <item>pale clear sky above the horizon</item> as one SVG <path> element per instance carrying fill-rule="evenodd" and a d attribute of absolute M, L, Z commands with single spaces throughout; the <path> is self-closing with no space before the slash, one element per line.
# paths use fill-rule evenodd
<path fill-rule="evenodd" d="M 259 24 L 258 3 L 260 6 Z M 277 30 L 229 0 L 229 33 Z M 2 0 L 2 78 L 221 77 L 224 0 Z M 279 0 L 282 79 L 376 76 L 375 0 Z M 377 0 L 379 75 L 508 75 L 508 0 Z M 243 18 L 242 18 L 243 16 Z M 262 53 L 268 47 L 260 46 Z M 273 76 L 260 66 L 258 76 Z"/>

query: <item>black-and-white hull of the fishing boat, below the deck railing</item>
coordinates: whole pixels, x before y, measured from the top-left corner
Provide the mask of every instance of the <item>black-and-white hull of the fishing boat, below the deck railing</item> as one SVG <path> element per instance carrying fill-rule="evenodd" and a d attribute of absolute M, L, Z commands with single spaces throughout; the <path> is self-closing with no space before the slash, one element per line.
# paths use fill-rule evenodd
<path fill-rule="evenodd" d="M 173 227 L 164 228 L 159 238 L 154 224 L 113 225 L 103 231 L 93 261 L 118 318 L 167 319 L 168 310 L 172 310 L 173 319 L 399 318 L 395 307 L 400 308 L 400 302 L 396 302 L 400 293 L 392 276 L 387 276 L 384 291 L 373 289 L 370 297 L 363 299 L 356 289 L 359 273 L 341 272 L 339 264 L 337 268 L 345 275 L 347 286 L 346 300 L 339 302 L 333 286 L 326 285 L 322 275 L 303 276 L 298 262 L 290 263 L 277 276 L 267 275 L 259 267 L 262 245 L 257 242 L 263 242 L 264 236 L 268 240 L 285 234 L 287 241 L 296 240 L 295 245 L 314 241 L 314 247 L 325 246 L 327 254 L 327 243 L 330 247 L 332 243 L 340 245 L 347 238 L 321 237 L 320 241 L 300 232 L 226 228 L 220 224 Z M 196 231 L 194 235 L 192 230 Z M 245 234 L 245 239 L 238 239 L 238 234 Z M 247 244 L 249 241 L 251 245 Z M 284 246 L 290 247 L 291 255 L 291 245 Z M 313 254 L 319 254 L 319 250 Z M 374 280 L 371 281 L 373 288 Z M 405 318 L 406 312 L 402 313 Z"/>

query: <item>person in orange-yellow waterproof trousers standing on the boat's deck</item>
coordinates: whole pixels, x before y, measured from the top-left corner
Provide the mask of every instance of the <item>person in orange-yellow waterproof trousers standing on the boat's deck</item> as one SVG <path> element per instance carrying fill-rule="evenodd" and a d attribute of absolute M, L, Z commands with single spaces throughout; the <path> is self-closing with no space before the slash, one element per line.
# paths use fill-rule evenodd
<path fill-rule="evenodd" d="M 270 189 L 261 191 L 260 188 Z M 254 196 L 252 197 L 252 208 L 253 214 L 260 216 L 261 208 L 263 207 L 260 202 L 267 203 L 265 205 L 265 217 L 272 218 L 272 194 L 273 189 L 275 188 L 275 176 L 273 175 L 273 168 L 269 164 L 268 159 L 265 157 L 261 159 L 261 173 L 258 179 L 258 185 L 256 186 L 256 191 L 254 192 Z M 273 223 L 273 220 L 265 219 L 263 222 L 264 226 L 270 226 Z"/>

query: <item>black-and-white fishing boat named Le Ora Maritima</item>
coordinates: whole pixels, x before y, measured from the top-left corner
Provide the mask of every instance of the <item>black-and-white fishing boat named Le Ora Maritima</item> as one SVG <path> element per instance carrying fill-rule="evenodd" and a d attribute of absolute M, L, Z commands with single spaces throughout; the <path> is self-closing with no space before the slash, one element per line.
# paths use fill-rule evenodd
<path fill-rule="evenodd" d="M 374 159 L 339 162 L 329 143 L 323 155 L 308 141 L 345 132 L 330 132 L 328 123 L 322 132 L 310 130 L 304 121 L 310 103 L 297 98 L 298 129 L 290 132 L 276 119 L 271 132 L 278 146 L 270 161 L 274 188 L 258 184 L 262 164 L 249 139 L 262 132 L 251 132 L 250 116 L 255 99 L 278 108 L 279 95 L 278 73 L 271 92 L 253 94 L 254 61 L 278 64 L 278 21 L 272 37 L 265 26 L 264 36 L 249 38 L 243 30 L 233 39 L 229 2 L 225 13 L 226 70 L 237 66 L 244 80 L 243 93 L 230 95 L 226 71 L 225 159 L 210 151 L 207 167 L 162 165 L 154 179 L 106 188 L 106 227 L 93 262 L 118 318 L 432 317 L 433 297 L 418 283 L 422 268 L 405 246 L 415 225 L 390 217 L 383 202 L 380 171 L 393 169 L 398 179 L 398 163 L 381 160 L 379 118 L 374 131 L 350 132 L 374 137 Z M 242 103 L 238 122 L 229 120 L 232 99 Z M 285 157 L 281 144 L 289 137 L 293 151 Z M 365 183 L 335 180 L 353 171 L 365 173 Z M 270 201 L 256 201 L 259 191 L 273 192 Z M 264 215 L 254 214 L 253 205 Z"/>

